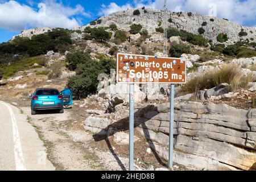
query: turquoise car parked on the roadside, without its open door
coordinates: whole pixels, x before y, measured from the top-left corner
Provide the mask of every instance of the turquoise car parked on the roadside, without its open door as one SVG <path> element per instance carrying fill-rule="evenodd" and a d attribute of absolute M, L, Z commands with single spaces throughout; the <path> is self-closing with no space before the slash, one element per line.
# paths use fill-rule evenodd
<path fill-rule="evenodd" d="M 40 88 L 36 89 L 31 97 L 31 114 L 36 114 L 39 110 L 58 110 L 64 113 L 63 96 L 57 89 Z"/>

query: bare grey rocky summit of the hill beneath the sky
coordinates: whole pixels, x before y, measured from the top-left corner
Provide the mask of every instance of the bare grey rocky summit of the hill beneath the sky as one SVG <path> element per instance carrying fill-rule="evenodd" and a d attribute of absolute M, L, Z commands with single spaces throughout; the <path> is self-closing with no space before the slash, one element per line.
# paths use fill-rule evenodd
<path fill-rule="evenodd" d="M 146 9 L 146 13 L 142 9 L 141 14 L 139 16 L 133 15 L 133 11 L 135 9 L 129 9 L 127 11 L 118 11 L 116 13 L 112 13 L 110 15 L 106 15 L 101 17 L 101 23 L 96 24 L 95 26 L 86 24 L 85 26 L 81 27 L 80 30 L 84 30 L 85 27 L 109 27 L 110 24 L 115 23 L 117 24 L 118 29 L 129 31 L 130 26 L 133 23 L 141 24 L 144 29 L 146 29 L 150 34 L 155 32 L 155 28 L 158 28 L 159 21 L 163 22 L 163 12 L 161 10 L 154 10 L 154 9 Z M 243 39 L 249 39 L 250 42 L 254 42 L 255 40 L 250 40 L 250 38 L 254 38 L 256 36 L 255 28 L 254 27 L 245 27 L 241 26 L 240 24 L 230 22 L 225 19 L 216 18 L 212 16 L 203 16 L 197 13 L 192 13 L 189 16 L 186 12 L 175 13 L 168 11 L 167 17 L 172 19 L 172 22 L 167 22 L 167 26 L 179 28 L 180 30 L 185 30 L 191 32 L 192 34 L 199 34 L 198 28 L 202 27 L 201 24 L 203 22 L 207 22 L 207 25 L 204 26 L 204 34 L 203 36 L 207 39 L 211 39 L 213 44 L 217 42 L 217 36 L 220 33 L 224 33 L 228 35 L 228 41 L 224 44 L 233 44 L 234 42 L 240 41 L 241 37 L 238 35 L 241 31 L 241 28 L 245 32 L 247 32 L 247 36 L 243 36 Z M 210 21 L 213 19 L 214 21 Z M 163 26 L 163 23 L 162 23 Z M 252 32 L 252 33 L 251 33 Z"/>

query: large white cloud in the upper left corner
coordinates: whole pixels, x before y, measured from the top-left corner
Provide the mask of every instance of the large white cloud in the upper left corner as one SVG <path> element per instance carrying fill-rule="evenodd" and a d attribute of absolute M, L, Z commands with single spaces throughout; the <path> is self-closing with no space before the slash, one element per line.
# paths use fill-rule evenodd
<path fill-rule="evenodd" d="M 44 1 L 38 4 L 36 11 L 31 6 L 16 1 L 0 3 L 0 28 L 22 31 L 27 27 L 63 27 L 79 26 L 74 15 L 89 17 L 81 5 L 75 8 L 65 7 L 56 1 Z"/>

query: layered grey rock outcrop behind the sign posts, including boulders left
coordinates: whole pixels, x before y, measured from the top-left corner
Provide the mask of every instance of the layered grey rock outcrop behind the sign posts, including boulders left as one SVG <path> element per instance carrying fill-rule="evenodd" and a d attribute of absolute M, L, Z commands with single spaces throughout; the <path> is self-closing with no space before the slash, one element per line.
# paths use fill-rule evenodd
<path fill-rule="evenodd" d="M 170 103 L 164 103 L 144 105 L 134 111 L 135 129 L 147 140 L 152 151 L 167 160 L 169 109 Z M 125 126 L 120 128 L 121 124 L 125 125 L 124 119 L 129 118 L 126 111 L 127 107 L 118 107 L 110 125 L 106 118 L 89 117 L 85 127 L 89 126 L 90 131 L 97 135 L 115 135 L 117 143 L 120 138 L 126 138 L 127 143 L 127 133 L 119 136 L 120 131 L 127 130 Z M 193 170 L 256 169 L 256 109 L 175 102 L 174 162 Z"/>

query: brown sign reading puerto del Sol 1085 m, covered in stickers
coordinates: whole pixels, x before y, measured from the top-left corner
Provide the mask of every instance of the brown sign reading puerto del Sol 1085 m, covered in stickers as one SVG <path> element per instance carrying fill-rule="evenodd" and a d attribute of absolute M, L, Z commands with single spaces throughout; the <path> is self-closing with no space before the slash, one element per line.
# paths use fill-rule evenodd
<path fill-rule="evenodd" d="M 185 84 L 186 61 L 172 57 L 118 53 L 117 82 Z"/>

